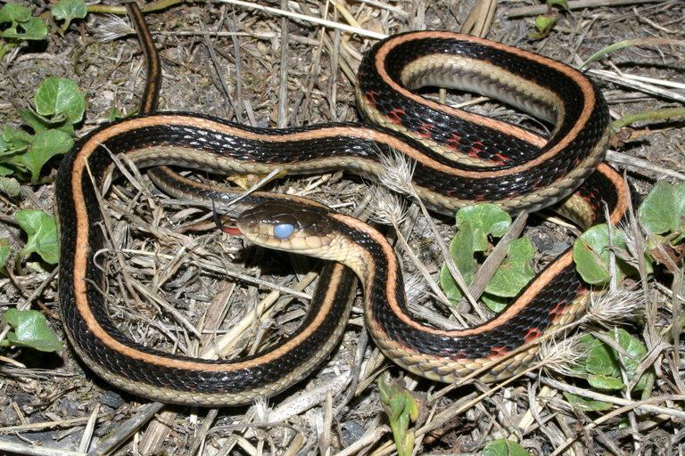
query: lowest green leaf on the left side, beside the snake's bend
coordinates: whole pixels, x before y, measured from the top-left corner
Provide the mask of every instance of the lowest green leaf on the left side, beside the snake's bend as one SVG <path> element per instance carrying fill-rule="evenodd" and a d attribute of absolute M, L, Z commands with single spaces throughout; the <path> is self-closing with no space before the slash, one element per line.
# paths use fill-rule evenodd
<path fill-rule="evenodd" d="M 7 333 L 4 346 L 30 346 L 42 352 L 62 350 L 62 342 L 47 326 L 45 316 L 35 310 L 10 309 L 4 314 L 13 331 Z"/>

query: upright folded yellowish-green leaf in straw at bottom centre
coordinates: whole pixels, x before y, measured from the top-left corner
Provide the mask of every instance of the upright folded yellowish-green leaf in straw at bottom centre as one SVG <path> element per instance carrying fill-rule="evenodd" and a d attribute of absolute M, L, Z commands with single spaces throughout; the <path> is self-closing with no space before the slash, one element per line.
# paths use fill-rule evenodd
<path fill-rule="evenodd" d="M 378 379 L 381 405 L 390 421 L 397 453 L 400 456 L 410 456 L 414 450 L 415 436 L 414 431 L 409 429 L 409 423 L 418 419 L 418 403 L 403 386 L 389 380 L 390 376 L 387 374 Z"/>

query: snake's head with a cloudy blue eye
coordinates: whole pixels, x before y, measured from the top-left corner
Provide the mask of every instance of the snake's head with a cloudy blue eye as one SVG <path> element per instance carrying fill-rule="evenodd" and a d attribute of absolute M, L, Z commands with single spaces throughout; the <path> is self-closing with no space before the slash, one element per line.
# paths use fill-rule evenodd
<path fill-rule="evenodd" d="M 294 201 L 267 202 L 243 212 L 235 225 L 259 246 L 330 259 L 331 212 Z"/>

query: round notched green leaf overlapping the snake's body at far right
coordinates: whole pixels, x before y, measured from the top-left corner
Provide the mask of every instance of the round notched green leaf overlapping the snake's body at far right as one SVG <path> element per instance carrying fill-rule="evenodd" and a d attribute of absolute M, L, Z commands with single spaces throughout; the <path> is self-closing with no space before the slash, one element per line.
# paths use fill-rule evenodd
<path fill-rule="evenodd" d="M 621 232 L 613 230 L 613 245 L 616 248 L 627 249 Z M 635 270 L 618 256 L 616 261 L 616 275 L 622 279 Z M 602 285 L 611 278 L 609 273 L 609 229 L 607 224 L 598 224 L 583 232 L 574 242 L 574 262 L 582 280 L 592 285 Z"/>

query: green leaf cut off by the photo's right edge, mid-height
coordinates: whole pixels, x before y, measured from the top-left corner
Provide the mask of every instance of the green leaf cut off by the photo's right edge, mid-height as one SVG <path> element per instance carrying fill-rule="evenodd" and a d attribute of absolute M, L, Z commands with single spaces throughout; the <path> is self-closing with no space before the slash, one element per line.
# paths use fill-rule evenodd
<path fill-rule="evenodd" d="M 656 183 L 638 208 L 640 223 L 656 234 L 685 231 L 685 183 Z"/>

